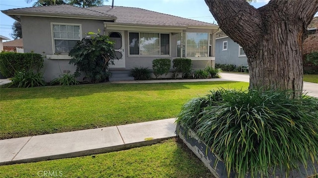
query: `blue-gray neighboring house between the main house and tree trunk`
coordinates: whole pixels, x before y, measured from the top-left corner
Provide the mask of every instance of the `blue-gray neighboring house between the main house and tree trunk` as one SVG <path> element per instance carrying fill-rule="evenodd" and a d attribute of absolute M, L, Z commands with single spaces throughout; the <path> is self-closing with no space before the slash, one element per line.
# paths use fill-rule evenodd
<path fill-rule="evenodd" d="M 215 63 L 247 65 L 247 57 L 242 47 L 235 43 L 223 31 L 216 34 Z"/>

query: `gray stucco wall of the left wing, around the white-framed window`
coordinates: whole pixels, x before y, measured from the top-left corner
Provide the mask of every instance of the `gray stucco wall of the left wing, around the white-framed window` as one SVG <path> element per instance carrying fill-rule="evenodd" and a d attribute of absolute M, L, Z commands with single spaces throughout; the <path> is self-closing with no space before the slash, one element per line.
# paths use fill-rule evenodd
<path fill-rule="evenodd" d="M 101 20 L 22 16 L 21 22 L 24 52 L 33 51 L 43 54 L 43 56 L 54 54 L 51 23 L 81 24 L 82 37 L 85 37 L 84 33 L 97 32 L 97 29 L 100 29 L 102 34 L 104 29 L 104 24 Z M 58 78 L 65 71 L 74 73 L 76 67 L 69 65 L 69 61 L 66 59 L 45 58 L 42 69 L 45 81 L 50 82 Z"/>

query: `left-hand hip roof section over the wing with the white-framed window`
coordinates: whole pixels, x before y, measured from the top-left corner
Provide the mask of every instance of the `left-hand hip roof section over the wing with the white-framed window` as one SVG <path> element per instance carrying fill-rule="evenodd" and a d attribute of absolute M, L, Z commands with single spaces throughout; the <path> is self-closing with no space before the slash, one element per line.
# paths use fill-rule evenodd
<path fill-rule="evenodd" d="M 29 16 L 53 16 L 53 17 L 69 17 L 69 18 L 91 18 L 91 19 L 116 19 L 112 15 L 97 12 L 92 9 L 80 8 L 73 5 L 61 4 L 39 7 L 15 8 L 9 10 L 1 10 L 7 15 L 29 15 Z"/>

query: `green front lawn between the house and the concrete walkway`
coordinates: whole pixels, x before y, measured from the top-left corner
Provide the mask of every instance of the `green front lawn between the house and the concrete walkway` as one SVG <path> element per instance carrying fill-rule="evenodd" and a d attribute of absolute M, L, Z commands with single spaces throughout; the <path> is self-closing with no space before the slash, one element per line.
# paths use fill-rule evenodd
<path fill-rule="evenodd" d="M 218 88 L 247 89 L 248 83 L 0 88 L 0 139 L 173 118 L 186 101 Z"/>

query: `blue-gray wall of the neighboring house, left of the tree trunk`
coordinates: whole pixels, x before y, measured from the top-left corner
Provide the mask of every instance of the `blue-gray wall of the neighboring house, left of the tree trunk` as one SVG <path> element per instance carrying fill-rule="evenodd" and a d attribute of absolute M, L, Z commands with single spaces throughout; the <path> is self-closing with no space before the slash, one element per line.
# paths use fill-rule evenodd
<path fill-rule="evenodd" d="M 228 41 L 228 50 L 222 50 L 223 42 Z M 239 44 L 231 38 L 217 39 L 215 43 L 215 63 L 217 64 L 234 64 L 247 65 L 247 57 L 239 57 Z"/>

